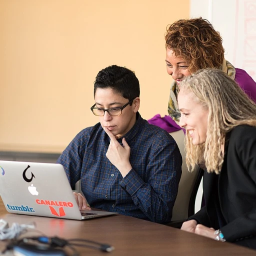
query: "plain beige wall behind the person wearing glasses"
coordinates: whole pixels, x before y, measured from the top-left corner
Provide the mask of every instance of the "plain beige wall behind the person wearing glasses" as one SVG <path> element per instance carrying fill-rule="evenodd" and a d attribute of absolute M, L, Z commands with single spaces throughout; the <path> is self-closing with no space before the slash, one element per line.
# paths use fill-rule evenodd
<path fill-rule="evenodd" d="M 167 114 L 167 24 L 189 0 L 0 0 L 0 150 L 61 152 L 95 124 L 93 81 L 123 65 L 140 81 L 143 118 Z"/>

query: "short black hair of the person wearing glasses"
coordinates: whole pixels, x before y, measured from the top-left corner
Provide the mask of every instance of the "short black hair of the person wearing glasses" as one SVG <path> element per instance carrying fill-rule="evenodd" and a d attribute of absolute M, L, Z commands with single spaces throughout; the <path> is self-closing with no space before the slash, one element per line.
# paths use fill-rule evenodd
<path fill-rule="evenodd" d="M 129 100 L 139 97 L 139 82 L 135 73 L 122 66 L 111 65 L 100 70 L 94 81 L 94 96 L 97 88 L 111 88 Z"/>

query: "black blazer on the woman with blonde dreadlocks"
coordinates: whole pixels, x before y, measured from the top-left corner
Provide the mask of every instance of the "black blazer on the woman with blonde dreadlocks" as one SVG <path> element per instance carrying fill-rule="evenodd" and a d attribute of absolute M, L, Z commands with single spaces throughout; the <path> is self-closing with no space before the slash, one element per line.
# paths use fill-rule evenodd
<path fill-rule="evenodd" d="M 218 229 L 222 218 L 227 241 L 256 249 L 256 127 L 239 125 L 226 134 L 220 174 L 204 173 L 203 194 L 205 206 L 189 219 Z"/>

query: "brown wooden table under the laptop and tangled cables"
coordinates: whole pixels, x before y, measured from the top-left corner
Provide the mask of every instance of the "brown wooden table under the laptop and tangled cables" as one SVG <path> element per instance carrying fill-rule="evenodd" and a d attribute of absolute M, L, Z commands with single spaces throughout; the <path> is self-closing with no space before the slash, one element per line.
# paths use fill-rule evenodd
<path fill-rule="evenodd" d="M 0 218 L 12 222 L 34 221 L 38 230 L 48 236 L 84 238 L 115 247 L 109 256 L 125 255 L 255 255 L 256 250 L 228 242 L 219 242 L 177 228 L 124 215 L 112 215 L 88 220 L 69 220 L 7 213 L 0 199 Z M 28 235 L 28 234 L 27 234 Z M 29 233 L 38 235 L 38 233 Z M 0 251 L 6 242 L 0 241 Z M 91 248 L 76 247 L 80 255 L 106 255 Z"/>

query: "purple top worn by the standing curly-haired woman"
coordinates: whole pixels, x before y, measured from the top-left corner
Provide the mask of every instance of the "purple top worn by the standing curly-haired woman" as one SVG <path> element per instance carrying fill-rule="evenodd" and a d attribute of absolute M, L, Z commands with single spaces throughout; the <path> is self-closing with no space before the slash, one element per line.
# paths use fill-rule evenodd
<path fill-rule="evenodd" d="M 249 74 L 243 69 L 235 68 L 234 80 L 239 84 L 244 92 L 256 103 L 256 82 L 254 82 Z M 147 121 L 150 124 L 154 124 L 161 127 L 162 129 L 165 129 L 167 132 L 173 132 L 181 129 L 181 127 L 168 115 L 161 117 L 160 114 L 156 114 Z"/>

